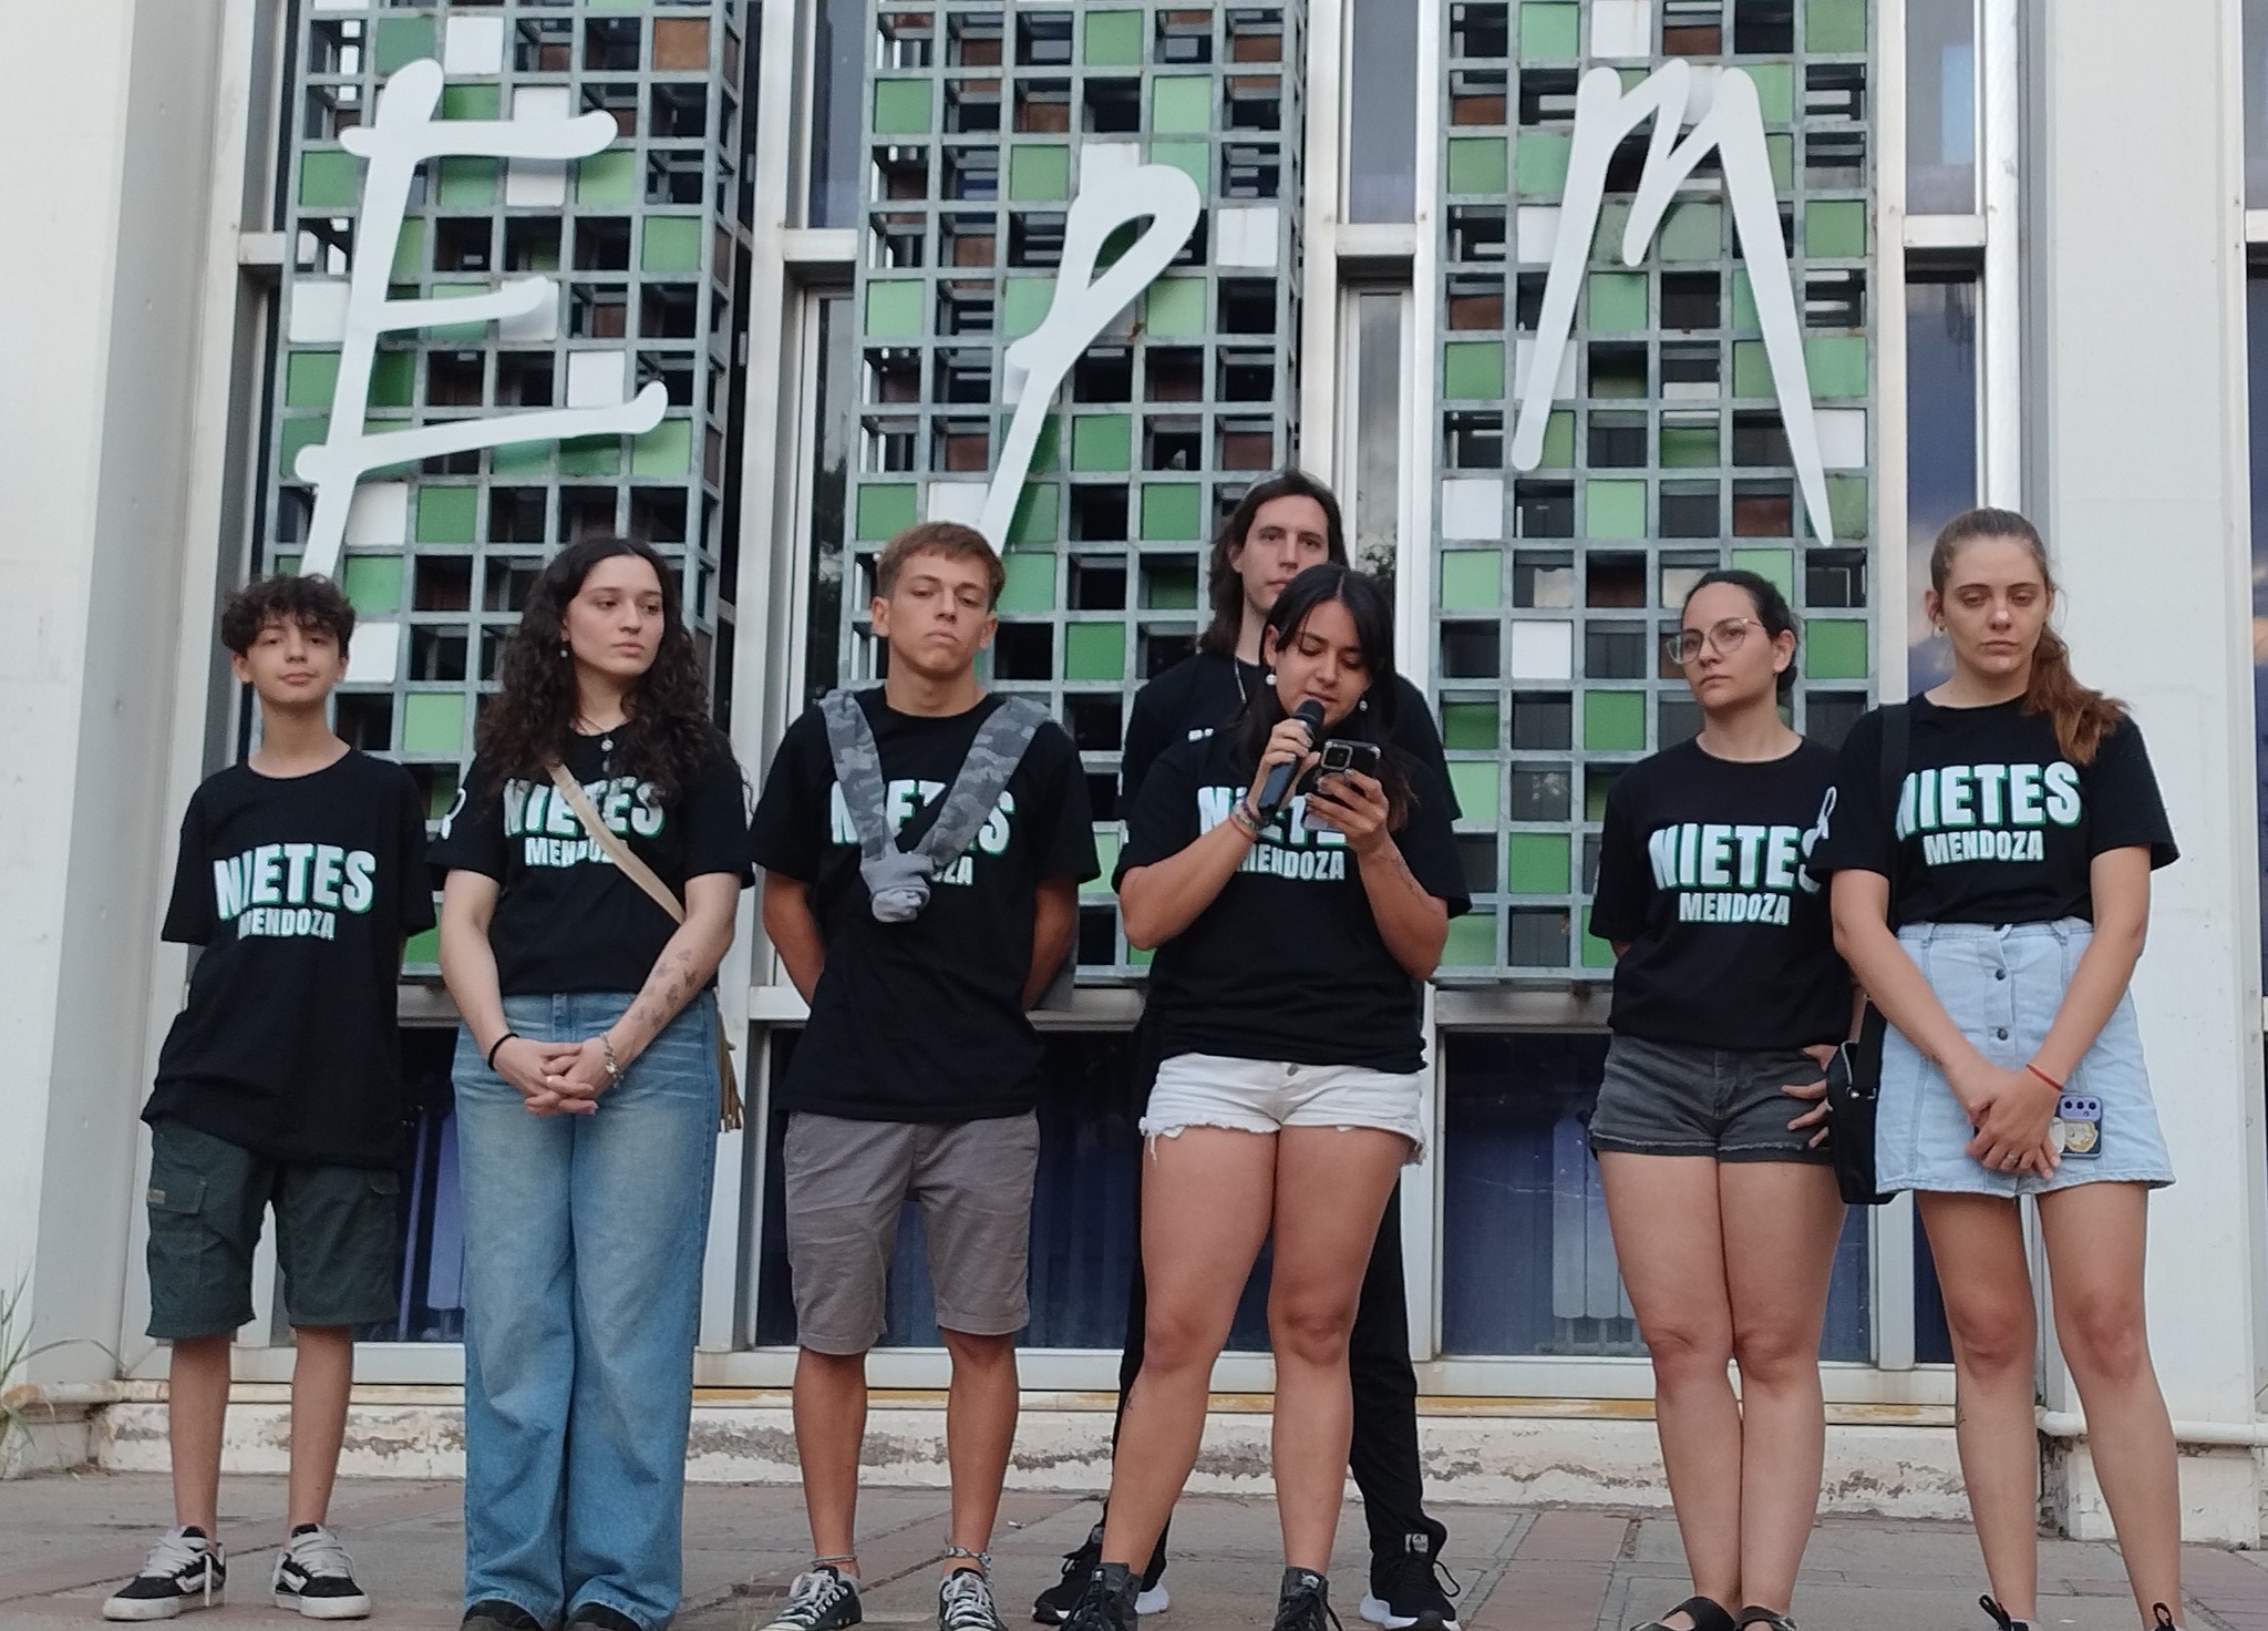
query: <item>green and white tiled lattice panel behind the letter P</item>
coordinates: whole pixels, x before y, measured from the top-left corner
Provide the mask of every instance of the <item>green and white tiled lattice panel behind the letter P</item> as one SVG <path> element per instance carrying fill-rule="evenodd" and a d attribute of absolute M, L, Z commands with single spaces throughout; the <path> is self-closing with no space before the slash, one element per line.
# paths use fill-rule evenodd
<path fill-rule="evenodd" d="M 828 404 L 844 535 L 819 540 L 830 576 L 812 590 L 814 615 L 837 619 L 830 640 L 814 633 L 832 671 L 814 667 L 810 685 L 880 667 L 875 547 L 921 515 L 978 510 L 1014 422 L 1000 352 L 1059 293 L 1066 204 L 1129 159 L 1177 168 L 1204 200 L 1209 250 L 1134 295 L 1082 356 L 1000 540 L 989 683 L 1046 699 L 1107 801 L 1125 703 L 1204 619 L 1207 542 L 1245 485 L 1293 458 L 1304 20 L 1297 0 L 866 9 L 860 157 L 898 168 L 860 204 L 869 247 L 844 302 L 844 402 Z M 1474 179 L 1501 195 L 1508 138 L 1488 145 L 1495 168 Z M 1132 238 L 1118 231 L 1102 261 Z M 1504 345 L 1483 345 L 1501 397 Z M 1465 363 L 1476 383 L 1486 361 Z M 1107 891 L 1082 896 L 1082 964 L 1139 969 L 1095 912 L 1111 912 Z"/>

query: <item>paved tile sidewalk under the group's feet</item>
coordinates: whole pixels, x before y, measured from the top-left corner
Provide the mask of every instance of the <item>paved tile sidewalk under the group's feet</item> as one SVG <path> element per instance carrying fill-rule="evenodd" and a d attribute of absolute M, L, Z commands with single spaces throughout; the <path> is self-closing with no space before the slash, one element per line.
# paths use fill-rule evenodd
<path fill-rule="evenodd" d="M 0 1631 L 95 1624 L 113 1581 L 134 1572 L 168 1520 L 166 1479 L 52 1474 L 0 1484 Z M 284 1481 L 227 1479 L 222 1538 L 231 1602 L 197 1626 L 295 1624 L 268 1606 L 281 1540 Z M 1009 1495 L 993 1579 L 1009 1624 L 1057 1579 L 1059 1554 L 1093 1522 L 1091 1497 Z M 1445 1506 L 1449 1563 L 1474 1631 L 1610 1631 L 1685 1595 L 1676 1527 L 1658 1513 Z M 374 1626 L 449 1631 L 458 1622 L 460 1488 L 347 1481 L 333 1522 L 376 1597 Z M 866 1620 L 934 1624 L 941 1490 L 873 1490 L 860 1506 Z M 1275 1509 L 1266 1499 L 1191 1497 L 1175 1518 L 1173 1611 L 1150 1631 L 1266 1626 L 1277 1579 Z M 685 1511 L 685 1631 L 762 1624 L 805 1556 L 796 1493 L 696 1484 Z M 1349 1631 L 1363 1586 L 1361 1513 L 1340 1522 L 1334 1602 Z M 2268 1631 L 2268 1554 L 2191 1547 L 2193 1631 Z M 1982 1631 L 1975 1543 L 1955 1524 L 1835 1518 L 1805 1554 L 1796 1617 L 1810 1631 Z M 2041 1543 L 2041 1622 L 2055 1631 L 2130 1631 L 2118 1556 L 2107 1545 Z"/>

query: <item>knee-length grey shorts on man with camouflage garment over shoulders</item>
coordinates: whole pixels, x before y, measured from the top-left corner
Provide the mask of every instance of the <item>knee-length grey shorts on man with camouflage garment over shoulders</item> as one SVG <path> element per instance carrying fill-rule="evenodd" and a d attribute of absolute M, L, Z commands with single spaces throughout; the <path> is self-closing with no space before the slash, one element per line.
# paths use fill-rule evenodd
<path fill-rule="evenodd" d="M 798 1109 L 780 1164 L 801 1347 L 864 1354 L 882 1336 L 907 1200 L 921 1207 L 939 1329 L 1009 1336 L 1030 1322 L 1039 1116 L 916 1123 Z"/>

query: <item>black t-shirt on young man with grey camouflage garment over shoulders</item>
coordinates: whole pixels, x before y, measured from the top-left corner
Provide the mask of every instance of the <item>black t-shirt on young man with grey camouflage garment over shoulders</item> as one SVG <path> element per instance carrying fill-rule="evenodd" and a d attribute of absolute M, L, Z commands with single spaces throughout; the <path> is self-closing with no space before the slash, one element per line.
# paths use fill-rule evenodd
<path fill-rule="evenodd" d="M 900 715 L 860 692 L 898 844 L 937 823 L 987 696 L 959 715 Z M 857 833 L 835 785 L 828 726 L 807 710 L 771 762 L 755 805 L 755 864 L 810 887 L 826 966 L 812 1019 L 773 1102 L 855 1121 L 984 1121 L 1039 1102 L 1041 1041 L 1023 1012 L 1041 882 L 1100 871 L 1080 751 L 1048 721 L 1007 778 L 991 819 L 930 882 L 905 923 L 873 914 Z"/>

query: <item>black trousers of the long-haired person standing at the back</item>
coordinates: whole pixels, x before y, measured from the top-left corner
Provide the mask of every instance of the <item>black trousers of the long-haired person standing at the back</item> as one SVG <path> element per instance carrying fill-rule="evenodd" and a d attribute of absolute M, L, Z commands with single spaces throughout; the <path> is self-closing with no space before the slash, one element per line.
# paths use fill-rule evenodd
<path fill-rule="evenodd" d="M 1136 1189 L 1136 1195 L 1141 1191 Z M 1141 1273 L 1141 1202 L 1134 1205 L 1136 1252 L 1127 1286 L 1127 1345 L 1118 1359 L 1118 1420 L 1125 1420 L 1127 1388 L 1141 1375 L 1148 1298 Z M 1399 1556 L 1406 1536 L 1433 1529 L 1424 1515 L 1424 1474 L 1417 1468 L 1417 1370 L 1411 1366 L 1408 1293 L 1402 1282 L 1402 1184 L 1386 1200 L 1379 1239 L 1363 1270 L 1354 1332 L 1347 1336 L 1347 1375 L 1354 1384 L 1354 1443 L 1347 1470 L 1363 1493 L 1370 1522 L 1370 1554 Z M 1116 1443 L 1118 1429 L 1111 1427 Z"/>

